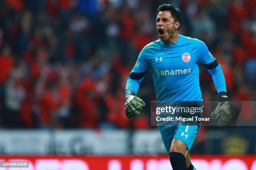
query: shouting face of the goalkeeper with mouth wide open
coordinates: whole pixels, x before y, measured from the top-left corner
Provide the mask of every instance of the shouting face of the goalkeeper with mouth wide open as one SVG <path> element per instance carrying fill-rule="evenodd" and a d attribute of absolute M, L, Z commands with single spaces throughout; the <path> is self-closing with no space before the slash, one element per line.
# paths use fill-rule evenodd
<path fill-rule="evenodd" d="M 174 21 L 170 11 L 160 11 L 156 18 L 156 30 L 160 40 L 166 44 L 171 43 L 174 32 L 179 28 L 180 22 Z"/>

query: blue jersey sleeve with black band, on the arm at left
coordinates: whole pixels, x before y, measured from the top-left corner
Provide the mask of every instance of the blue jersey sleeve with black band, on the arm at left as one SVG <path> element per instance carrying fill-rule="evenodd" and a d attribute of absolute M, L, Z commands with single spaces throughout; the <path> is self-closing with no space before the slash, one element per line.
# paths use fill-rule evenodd
<path fill-rule="evenodd" d="M 138 59 L 133 67 L 133 70 L 131 71 L 130 75 L 127 78 L 125 95 L 132 90 L 135 92 L 135 95 L 137 95 L 140 83 L 145 77 L 146 72 L 148 71 L 148 67 L 149 65 L 146 57 L 146 50 L 144 47 L 138 56 Z"/>

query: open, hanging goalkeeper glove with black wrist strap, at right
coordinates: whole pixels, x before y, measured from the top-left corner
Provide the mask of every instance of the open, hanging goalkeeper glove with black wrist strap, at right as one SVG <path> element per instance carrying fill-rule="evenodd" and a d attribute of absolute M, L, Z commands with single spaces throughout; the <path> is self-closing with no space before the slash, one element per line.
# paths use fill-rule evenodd
<path fill-rule="evenodd" d="M 212 112 L 212 118 L 217 119 L 220 115 L 220 120 L 218 122 L 218 126 L 225 126 L 230 123 L 232 118 L 230 105 L 228 103 L 228 94 L 227 92 L 219 92 L 218 93 L 218 106 Z"/>

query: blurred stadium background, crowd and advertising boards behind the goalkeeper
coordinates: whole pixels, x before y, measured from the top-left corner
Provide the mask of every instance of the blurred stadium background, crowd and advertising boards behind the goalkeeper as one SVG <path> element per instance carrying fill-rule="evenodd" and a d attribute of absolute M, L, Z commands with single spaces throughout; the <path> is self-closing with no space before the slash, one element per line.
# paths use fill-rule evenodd
<path fill-rule="evenodd" d="M 255 0 L 1 0 L 0 159 L 30 160 L 31 170 L 171 169 L 150 124 L 150 73 L 141 115 L 128 120 L 123 109 L 126 78 L 158 39 L 163 3 L 183 11 L 179 33 L 217 58 L 230 99 L 256 100 Z M 217 100 L 203 67 L 200 87 Z M 255 126 L 204 126 L 191 153 L 198 170 L 255 170 Z"/>

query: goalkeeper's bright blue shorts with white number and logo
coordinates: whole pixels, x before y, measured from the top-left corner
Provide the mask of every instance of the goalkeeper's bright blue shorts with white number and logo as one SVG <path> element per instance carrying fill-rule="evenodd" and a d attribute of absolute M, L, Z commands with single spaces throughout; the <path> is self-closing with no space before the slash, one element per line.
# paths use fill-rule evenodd
<path fill-rule="evenodd" d="M 158 126 L 158 128 L 164 142 L 164 147 L 169 155 L 173 139 L 181 140 L 187 145 L 187 149 L 189 151 L 197 136 L 200 125 L 165 125 Z"/>

